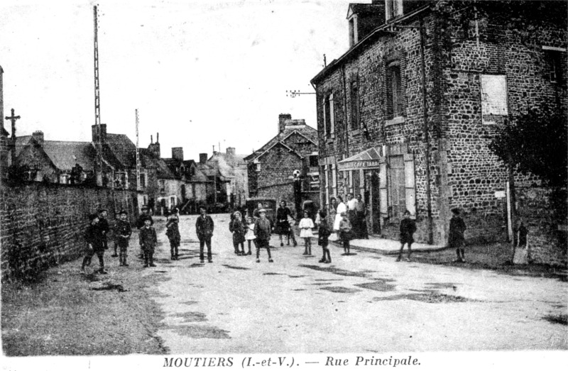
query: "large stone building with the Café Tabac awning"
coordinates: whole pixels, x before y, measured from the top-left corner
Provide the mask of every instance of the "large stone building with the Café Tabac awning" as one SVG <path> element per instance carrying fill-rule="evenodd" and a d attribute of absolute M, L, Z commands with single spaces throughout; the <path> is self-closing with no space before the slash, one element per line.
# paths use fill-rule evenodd
<path fill-rule="evenodd" d="M 418 241 L 445 245 L 459 208 L 467 240 L 505 240 L 508 171 L 488 143 L 529 108 L 566 112 L 566 13 L 565 1 L 350 4 L 349 50 L 312 79 L 322 201 L 363 194 L 370 231 L 390 238 L 408 209 Z"/>

